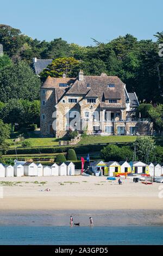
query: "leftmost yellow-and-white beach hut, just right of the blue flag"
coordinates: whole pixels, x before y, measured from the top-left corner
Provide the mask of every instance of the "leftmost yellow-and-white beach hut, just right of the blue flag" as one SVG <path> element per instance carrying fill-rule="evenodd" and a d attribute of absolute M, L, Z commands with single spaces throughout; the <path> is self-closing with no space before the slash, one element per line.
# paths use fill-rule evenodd
<path fill-rule="evenodd" d="M 96 176 L 108 176 L 108 165 L 101 160 L 92 162 L 89 169 Z"/>

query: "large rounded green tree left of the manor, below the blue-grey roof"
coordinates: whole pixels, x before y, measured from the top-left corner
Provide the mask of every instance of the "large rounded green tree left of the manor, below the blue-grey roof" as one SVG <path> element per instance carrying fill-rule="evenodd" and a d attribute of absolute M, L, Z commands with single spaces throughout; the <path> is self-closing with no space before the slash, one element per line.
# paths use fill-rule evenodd
<path fill-rule="evenodd" d="M 40 78 L 24 63 L 18 62 L 0 73 L 0 101 L 39 99 Z"/>

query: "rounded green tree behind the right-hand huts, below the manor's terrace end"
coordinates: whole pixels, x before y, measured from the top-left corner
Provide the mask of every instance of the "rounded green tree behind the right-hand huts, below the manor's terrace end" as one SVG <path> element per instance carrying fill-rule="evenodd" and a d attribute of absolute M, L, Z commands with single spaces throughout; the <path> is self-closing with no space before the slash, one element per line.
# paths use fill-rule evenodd
<path fill-rule="evenodd" d="M 147 156 L 149 159 L 153 158 L 155 150 L 155 142 L 149 136 L 140 136 L 137 137 L 136 142 L 134 143 L 136 147 L 136 156 L 139 161 L 146 162 Z"/>

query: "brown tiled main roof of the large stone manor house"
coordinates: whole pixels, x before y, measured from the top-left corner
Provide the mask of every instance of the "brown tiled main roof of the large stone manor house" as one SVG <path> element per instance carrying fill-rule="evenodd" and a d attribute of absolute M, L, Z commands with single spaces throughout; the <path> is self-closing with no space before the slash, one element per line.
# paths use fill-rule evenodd
<path fill-rule="evenodd" d="M 59 87 L 59 83 L 67 83 L 68 86 Z M 87 84 L 90 84 L 91 89 L 87 87 Z M 109 88 L 108 84 L 114 84 L 115 87 Z M 105 103 L 107 107 L 126 108 L 124 83 L 117 76 L 84 76 L 84 81 L 79 81 L 78 78 L 48 76 L 41 88 L 55 89 L 57 102 L 63 95 L 82 95 L 83 97 L 98 97 L 99 101 Z M 120 102 L 109 103 L 108 99 L 120 99 Z"/>

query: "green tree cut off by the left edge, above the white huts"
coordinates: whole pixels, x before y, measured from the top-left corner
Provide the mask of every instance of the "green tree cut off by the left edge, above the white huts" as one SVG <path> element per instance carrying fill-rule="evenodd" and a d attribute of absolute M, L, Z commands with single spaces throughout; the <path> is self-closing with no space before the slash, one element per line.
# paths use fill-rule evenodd
<path fill-rule="evenodd" d="M 10 137 L 10 126 L 0 119 L 0 151 L 5 153 L 8 149 L 7 139 Z"/>

